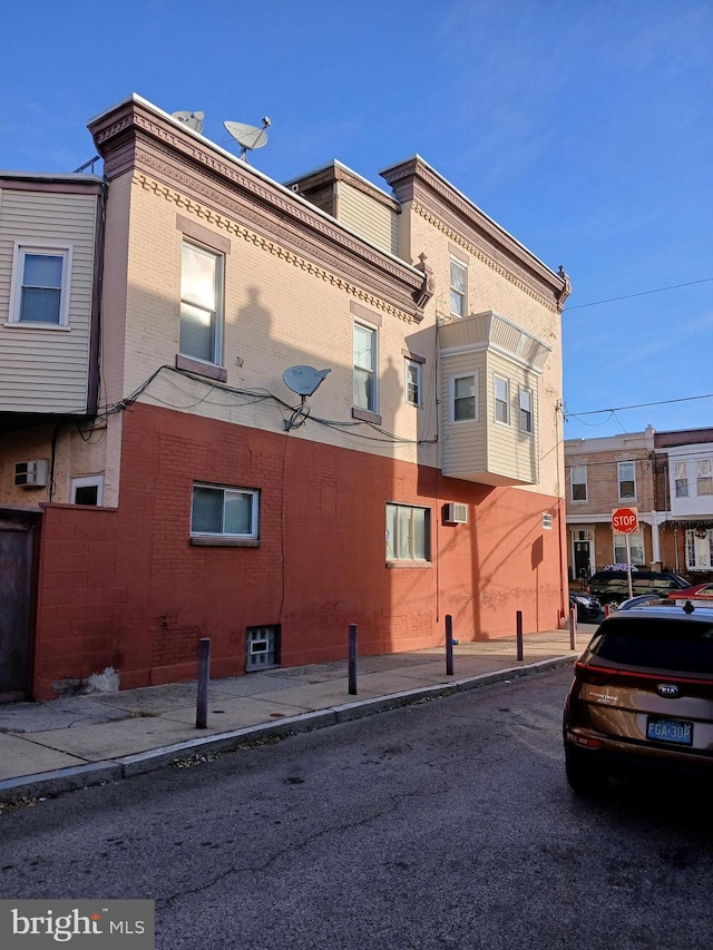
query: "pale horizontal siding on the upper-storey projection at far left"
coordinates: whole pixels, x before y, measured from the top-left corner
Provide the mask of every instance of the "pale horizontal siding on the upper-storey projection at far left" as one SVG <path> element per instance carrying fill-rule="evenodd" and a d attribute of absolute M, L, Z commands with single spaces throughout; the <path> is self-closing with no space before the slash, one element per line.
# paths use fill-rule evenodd
<path fill-rule="evenodd" d="M 96 195 L 3 189 L 0 196 L 0 411 L 87 409 Z M 10 323 L 16 246 L 71 247 L 67 329 Z"/>

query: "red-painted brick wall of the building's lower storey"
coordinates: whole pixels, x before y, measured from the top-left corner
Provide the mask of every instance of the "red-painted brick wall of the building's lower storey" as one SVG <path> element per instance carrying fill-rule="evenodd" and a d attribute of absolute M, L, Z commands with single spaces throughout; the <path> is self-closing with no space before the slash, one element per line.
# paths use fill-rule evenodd
<path fill-rule="evenodd" d="M 257 488 L 260 547 L 189 543 L 196 481 Z M 443 478 L 438 470 L 134 404 L 124 417 L 118 509 L 49 506 L 39 581 L 35 696 L 114 666 L 121 688 L 245 670 L 247 627 L 280 625 L 281 660 L 557 628 L 563 604 L 557 498 Z M 385 503 L 431 508 L 431 565 L 385 566 Z M 446 502 L 469 523 L 442 521 Z M 553 529 L 543 530 L 543 512 Z"/>

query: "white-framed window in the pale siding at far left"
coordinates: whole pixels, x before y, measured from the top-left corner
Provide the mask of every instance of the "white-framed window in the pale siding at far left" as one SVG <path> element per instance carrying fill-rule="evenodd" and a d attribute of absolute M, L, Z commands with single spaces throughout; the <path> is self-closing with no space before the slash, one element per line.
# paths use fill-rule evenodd
<path fill-rule="evenodd" d="M 10 323 L 69 325 L 71 247 L 17 244 Z"/>

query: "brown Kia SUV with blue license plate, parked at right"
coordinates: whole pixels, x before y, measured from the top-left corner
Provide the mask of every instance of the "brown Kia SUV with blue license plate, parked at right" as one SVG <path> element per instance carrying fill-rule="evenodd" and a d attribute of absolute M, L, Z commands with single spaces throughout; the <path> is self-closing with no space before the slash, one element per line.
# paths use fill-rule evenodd
<path fill-rule="evenodd" d="M 713 608 L 633 607 L 602 621 L 575 664 L 564 709 L 567 781 L 713 780 Z"/>

